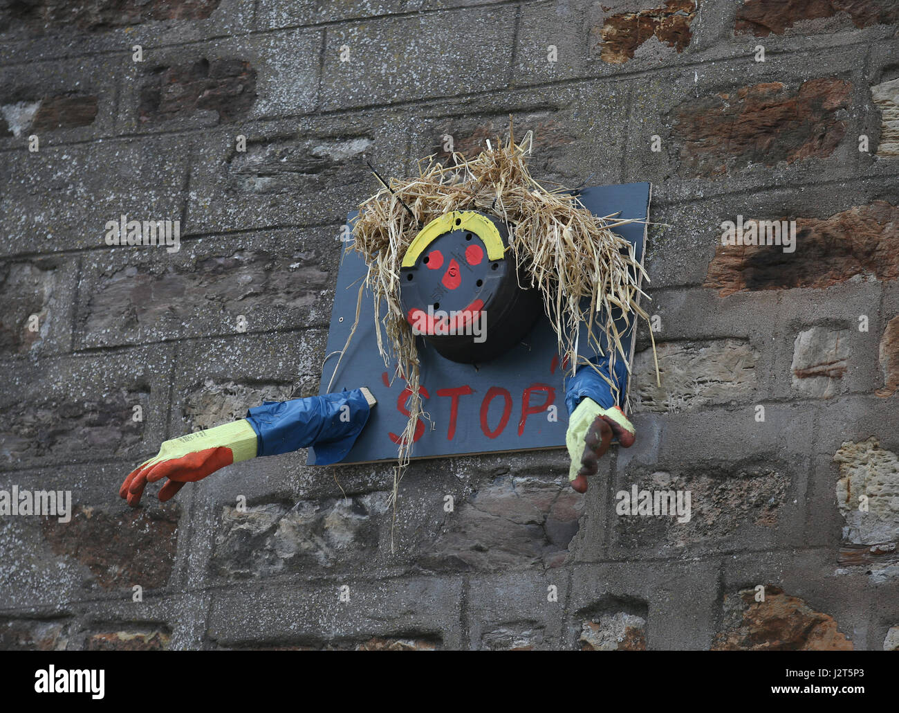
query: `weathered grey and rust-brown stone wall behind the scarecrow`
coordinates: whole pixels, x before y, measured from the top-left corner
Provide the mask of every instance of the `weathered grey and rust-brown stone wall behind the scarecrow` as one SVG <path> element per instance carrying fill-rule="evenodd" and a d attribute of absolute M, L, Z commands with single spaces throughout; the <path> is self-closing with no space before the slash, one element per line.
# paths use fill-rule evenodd
<path fill-rule="evenodd" d="M 899 647 L 897 24 L 895 0 L 0 4 L 0 482 L 74 500 L 0 517 L 0 646 Z M 563 451 L 414 463 L 396 522 L 389 464 L 303 453 L 129 510 L 163 439 L 317 393 L 363 155 L 408 175 L 510 113 L 536 176 L 654 185 L 636 445 L 584 496 Z M 107 247 L 121 214 L 181 221 L 180 250 Z M 796 221 L 795 251 L 722 245 L 737 216 Z M 619 515 L 634 485 L 691 519 Z"/>

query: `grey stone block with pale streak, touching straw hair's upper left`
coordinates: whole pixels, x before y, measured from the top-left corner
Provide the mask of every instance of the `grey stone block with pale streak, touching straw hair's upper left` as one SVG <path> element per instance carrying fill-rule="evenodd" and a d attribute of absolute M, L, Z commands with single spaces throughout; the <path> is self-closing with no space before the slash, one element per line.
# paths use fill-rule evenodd
<path fill-rule="evenodd" d="M 339 226 L 380 187 L 363 156 L 385 178 L 405 175 L 407 132 L 394 114 L 310 118 L 299 130 L 296 122 L 253 124 L 240 133 L 245 152 L 235 149 L 236 131 L 219 130 L 194 158 L 185 230 Z M 326 239 L 340 237 L 326 230 Z"/>

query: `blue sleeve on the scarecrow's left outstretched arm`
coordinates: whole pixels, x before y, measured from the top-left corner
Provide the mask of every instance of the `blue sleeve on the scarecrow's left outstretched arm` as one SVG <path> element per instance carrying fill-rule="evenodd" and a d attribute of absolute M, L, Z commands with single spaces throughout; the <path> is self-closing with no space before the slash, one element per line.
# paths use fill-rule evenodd
<path fill-rule="evenodd" d="M 346 407 L 346 408 L 344 408 Z M 258 456 L 279 456 L 315 447 L 316 465 L 330 465 L 350 452 L 369 420 L 359 389 L 289 402 L 263 402 L 246 412 L 258 439 Z"/>

